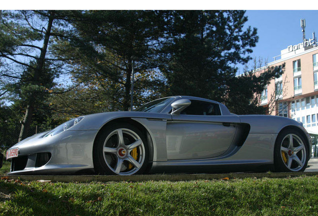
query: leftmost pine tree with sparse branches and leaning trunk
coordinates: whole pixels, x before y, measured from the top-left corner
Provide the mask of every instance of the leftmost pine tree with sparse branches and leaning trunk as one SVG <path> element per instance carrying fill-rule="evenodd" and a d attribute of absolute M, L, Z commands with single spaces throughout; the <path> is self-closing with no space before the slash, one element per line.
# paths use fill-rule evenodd
<path fill-rule="evenodd" d="M 0 23 L 1 95 L 22 105 L 19 140 L 27 137 L 32 116 L 47 103 L 65 59 L 51 54 L 50 41 L 64 36 L 63 11 L 4 11 Z M 56 27 L 58 26 L 58 28 Z"/>

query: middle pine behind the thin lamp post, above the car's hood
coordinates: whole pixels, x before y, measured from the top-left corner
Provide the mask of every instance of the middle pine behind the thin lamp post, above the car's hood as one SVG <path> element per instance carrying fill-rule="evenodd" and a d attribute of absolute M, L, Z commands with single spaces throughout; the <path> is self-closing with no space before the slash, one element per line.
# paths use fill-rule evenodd
<path fill-rule="evenodd" d="M 60 55 L 75 56 L 71 74 L 78 87 L 70 94 L 85 91 L 76 98 L 99 103 L 95 111 L 128 110 L 133 66 L 134 105 L 157 96 L 162 76 L 156 70 L 160 29 L 155 11 L 81 11 L 73 17 L 72 37 L 57 44 Z M 72 100 L 72 96 L 69 98 Z M 85 112 L 75 103 L 67 106 Z"/>

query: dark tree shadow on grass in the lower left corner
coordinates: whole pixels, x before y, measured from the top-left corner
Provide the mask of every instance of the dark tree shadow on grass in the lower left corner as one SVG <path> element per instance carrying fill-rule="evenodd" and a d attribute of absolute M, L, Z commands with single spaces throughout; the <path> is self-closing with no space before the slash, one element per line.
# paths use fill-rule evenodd
<path fill-rule="evenodd" d="M 8 195 L 0 199 L 4 215 L 92 215 L 83 202 L 60 197 L 46 189 L 35 189 L 25 182 L 0 181 L 0 191 Z M 5 203 L 4 203 L 5 202 Z"/>

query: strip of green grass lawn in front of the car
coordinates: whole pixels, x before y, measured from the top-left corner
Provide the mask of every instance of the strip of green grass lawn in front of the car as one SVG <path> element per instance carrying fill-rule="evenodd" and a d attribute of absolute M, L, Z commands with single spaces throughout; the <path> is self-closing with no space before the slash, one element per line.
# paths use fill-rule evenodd
<path fill-rule="evenodd" d="M 318 176 L 107 183 L 2 179 L 0 192 L 0 215 L 318 215 Z"/>

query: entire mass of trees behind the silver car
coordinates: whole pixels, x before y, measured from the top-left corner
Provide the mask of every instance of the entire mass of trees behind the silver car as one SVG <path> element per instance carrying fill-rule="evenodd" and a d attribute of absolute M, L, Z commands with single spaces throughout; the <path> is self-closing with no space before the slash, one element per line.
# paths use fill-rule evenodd
<path fill-rule="evenodd" d="M 10 117 L 0 120 L 10 130 L 21 122 L 22 138 L 35 125 L 129 110 L 131 94 L 133 107 L 194 95 L 237 114 L 264 113 L 258 95 L 277 70 L 235 76 L 258 40 L 246 21 L 241 10 L 3 11 L 0 99 L 12 105 L 2 105 Z M 60 74 L 71 83 L 57 84 Z"/>

